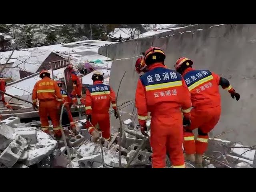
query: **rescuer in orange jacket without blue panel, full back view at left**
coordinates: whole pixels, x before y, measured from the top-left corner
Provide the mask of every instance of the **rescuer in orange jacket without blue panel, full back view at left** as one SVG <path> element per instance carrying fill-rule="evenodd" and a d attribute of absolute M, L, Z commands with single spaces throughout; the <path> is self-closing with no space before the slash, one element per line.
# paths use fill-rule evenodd
<path fill-rule="evenodd" d="M 60 138 L 62 136 L 60 130 L 60 115 L 58 109 L 62 105 L 62 96 L 57 82 L 50 78 L 48 70 L 42 70 L 39 74 L 42 80 L 36 82 L 32 92 L 33 108 L 36 110 L 36 102 L 39 100 L 39 116 L 42 124 L 42 130 L 48 134 L 49 122 L 48 115 L 52 120 L 54 136 Z"/>

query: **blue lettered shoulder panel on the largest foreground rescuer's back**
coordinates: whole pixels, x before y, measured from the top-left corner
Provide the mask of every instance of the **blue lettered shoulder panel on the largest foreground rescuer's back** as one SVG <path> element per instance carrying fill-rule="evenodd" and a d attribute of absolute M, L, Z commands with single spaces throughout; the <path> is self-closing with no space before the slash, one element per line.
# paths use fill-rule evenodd
<path fill-rule="evenodd" d="M 146 72 L 140 77 L 140 80 L 144 86 L 148 86 L 180 81 L 182 76 L 174 70 L 158 67 Z"/>

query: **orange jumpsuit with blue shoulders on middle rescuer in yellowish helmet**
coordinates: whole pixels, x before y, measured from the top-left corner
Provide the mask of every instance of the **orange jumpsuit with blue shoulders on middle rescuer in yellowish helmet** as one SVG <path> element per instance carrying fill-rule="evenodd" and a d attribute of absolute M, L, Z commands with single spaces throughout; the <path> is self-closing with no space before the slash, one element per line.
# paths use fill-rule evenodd
<path fill-rule="evenodd" d="M 116 95 L 114 90 L 102 81 L 95 81 L 93 86 L 86 90 L 85 110 L 87 115 L 92 115 L 92 125 L 98 123 L 102 131 L 102 137 L 110 139 L 110 102 L 113 109 L 116 109 Z M 91 133 L 93 129 L 89 130 Z"/>

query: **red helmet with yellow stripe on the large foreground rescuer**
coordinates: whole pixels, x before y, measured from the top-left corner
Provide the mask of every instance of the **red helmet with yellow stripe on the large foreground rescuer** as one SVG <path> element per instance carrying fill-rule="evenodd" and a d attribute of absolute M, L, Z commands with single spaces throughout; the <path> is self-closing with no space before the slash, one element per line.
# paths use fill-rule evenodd
<path fill-rule="evenodd" d="M 162 49 L 160 49 L 159 47 L 150 47 L 145 52 L 145 63 L 149 65 L 155 62 L 164 62 L 165 57 L 166 56 Z"/>

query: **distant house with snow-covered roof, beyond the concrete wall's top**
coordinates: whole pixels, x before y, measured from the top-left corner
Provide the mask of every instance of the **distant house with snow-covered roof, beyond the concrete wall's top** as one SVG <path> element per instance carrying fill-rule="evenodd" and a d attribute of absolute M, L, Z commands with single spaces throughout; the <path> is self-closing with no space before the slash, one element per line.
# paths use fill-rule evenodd
<path fill-rule="evenodd" d="M 110 41 L 120 42 L 127 41 L 138 37 L 139 30 L 136 28 L 115 28 L 108 35 Z"/>

